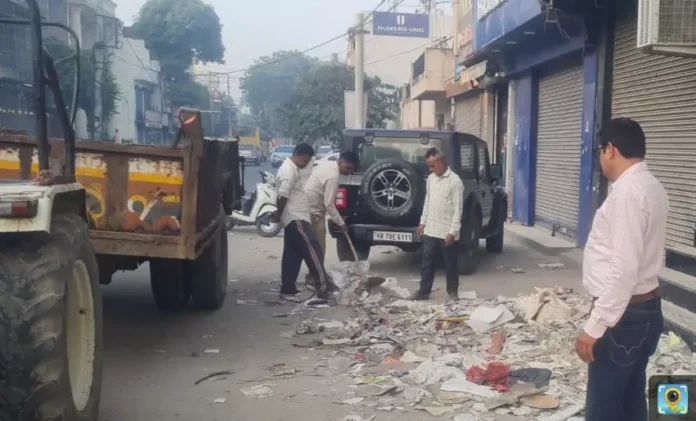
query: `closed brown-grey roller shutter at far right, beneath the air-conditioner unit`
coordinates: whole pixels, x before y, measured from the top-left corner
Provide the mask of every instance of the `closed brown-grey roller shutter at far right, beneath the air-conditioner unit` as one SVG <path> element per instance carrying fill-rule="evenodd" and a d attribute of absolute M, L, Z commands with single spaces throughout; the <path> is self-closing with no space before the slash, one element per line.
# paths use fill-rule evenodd
<path fill-rule="evenodd" d="M 669 195 L 667 245 L 694 247 L 696 59 L 641 54 L 635 16 L 616 28 L 613 117 L 643 127 L 646 162 Z"/>

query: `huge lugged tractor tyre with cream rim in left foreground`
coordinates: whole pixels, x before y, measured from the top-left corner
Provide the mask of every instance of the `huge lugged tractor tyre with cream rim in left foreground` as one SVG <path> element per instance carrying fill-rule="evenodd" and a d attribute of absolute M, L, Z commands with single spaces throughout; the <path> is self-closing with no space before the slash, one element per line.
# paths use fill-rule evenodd
<path fill-rule="evenodd" d="M 0 419 L 98 417 L 103 367 L 99 270 L 87 225 L 0 239 Z"/>

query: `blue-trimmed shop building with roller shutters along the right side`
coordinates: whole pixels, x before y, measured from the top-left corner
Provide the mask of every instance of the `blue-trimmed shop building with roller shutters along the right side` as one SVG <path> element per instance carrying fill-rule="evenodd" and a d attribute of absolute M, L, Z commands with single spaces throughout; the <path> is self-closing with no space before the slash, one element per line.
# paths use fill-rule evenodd
<path fill-rule="evenodd" d="M 454 126 L 504 166 L 509 217 L 584 246 L 607 192 L 597 133 L 631 117 L 669 193 L 668 246 L 696 257 L 696 59 L 638 49 L 637 0 L 464 3 Z"/>

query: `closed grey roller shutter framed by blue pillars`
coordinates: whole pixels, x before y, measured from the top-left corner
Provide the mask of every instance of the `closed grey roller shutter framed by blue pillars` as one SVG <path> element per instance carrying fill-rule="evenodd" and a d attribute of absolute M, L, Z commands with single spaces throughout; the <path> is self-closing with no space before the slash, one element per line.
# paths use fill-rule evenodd
<path fill-rule="evenodd" d="M 580 200 L 583 67 L 539 79 L 536 219 L 575 237 Z"/>

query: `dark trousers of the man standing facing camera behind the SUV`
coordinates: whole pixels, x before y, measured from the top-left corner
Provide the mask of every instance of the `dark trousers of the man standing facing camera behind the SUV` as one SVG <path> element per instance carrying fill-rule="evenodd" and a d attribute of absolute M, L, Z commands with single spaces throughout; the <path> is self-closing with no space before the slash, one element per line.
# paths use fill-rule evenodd
<path fill-rule="evenodd" d="M 438 257 L 445 261 L 445 276 L 447 279 L 447 293 L 456 294 L 459 291 L 459 266 L 457 257 L 459 244 L 455 241 L 449 247 L 445 247 L 445 240 L 441 238 L 423 236 L 423 266 L 421 267 L 420 293 L 429 296 L 433 290 L 435 280 L 435 267 Z"/>

